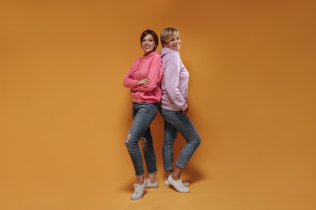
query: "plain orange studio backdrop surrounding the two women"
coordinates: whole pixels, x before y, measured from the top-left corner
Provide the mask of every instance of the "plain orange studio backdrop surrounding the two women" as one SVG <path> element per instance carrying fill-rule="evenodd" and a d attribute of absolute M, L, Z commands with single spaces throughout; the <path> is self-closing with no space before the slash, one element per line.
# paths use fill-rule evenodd
<path fill-rule="evenodd" d="M 0 209 L 315 209 L 313 2 L 3 1 Z M 202 143 L 190 192 L 163 186 L 158 114 L 160 187 L 131 201 L 122 81 L 140 34 L 165 27 L 180 30 Z"/>

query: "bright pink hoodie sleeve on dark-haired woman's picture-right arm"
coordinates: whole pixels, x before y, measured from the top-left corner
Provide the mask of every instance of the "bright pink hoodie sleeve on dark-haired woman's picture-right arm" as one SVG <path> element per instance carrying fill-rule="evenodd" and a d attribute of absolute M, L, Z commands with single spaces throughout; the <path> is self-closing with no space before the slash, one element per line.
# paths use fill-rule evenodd
<path fill-rule="evenodd" d="M 148 78 L 150 82 L 146 85 L 139 85 L 132 88 L 132 91 L 152 91 L 157 85 L 160 85 L 163 78 L 163 63 L 159 54 L 152 56 L 149 64 Z"/>

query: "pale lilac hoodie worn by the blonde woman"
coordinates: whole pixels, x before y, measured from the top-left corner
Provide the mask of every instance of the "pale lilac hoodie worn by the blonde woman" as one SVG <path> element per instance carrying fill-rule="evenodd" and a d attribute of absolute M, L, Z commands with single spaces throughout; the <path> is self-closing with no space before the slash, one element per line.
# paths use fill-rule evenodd
<path fill-rule="evenodd" d="M 163 58 L 164 74 L 160 106 L 172 111 L 186 110 L 189 73 L 181 61 L 180 53 L 177 50 L 163 47 L 160 54 Z"/>

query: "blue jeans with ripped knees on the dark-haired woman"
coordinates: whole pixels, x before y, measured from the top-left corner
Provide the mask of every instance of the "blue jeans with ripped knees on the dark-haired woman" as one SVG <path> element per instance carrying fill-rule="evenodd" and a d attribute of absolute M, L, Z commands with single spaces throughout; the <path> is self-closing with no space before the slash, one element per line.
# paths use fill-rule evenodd
<path fill-rule="evenodd" d="M 143 149 L 148 174 L 157 171 L 156 156 L 153 150 L 149 125 L 155 118 L 158 107 L 158 103 L 146 102 L 133 102 L 132 105 L 133 122 L 128 130 L 125 146 L 132 159 L 136 176 L 144 174 L 143 158 L 138 142 Z"/>

